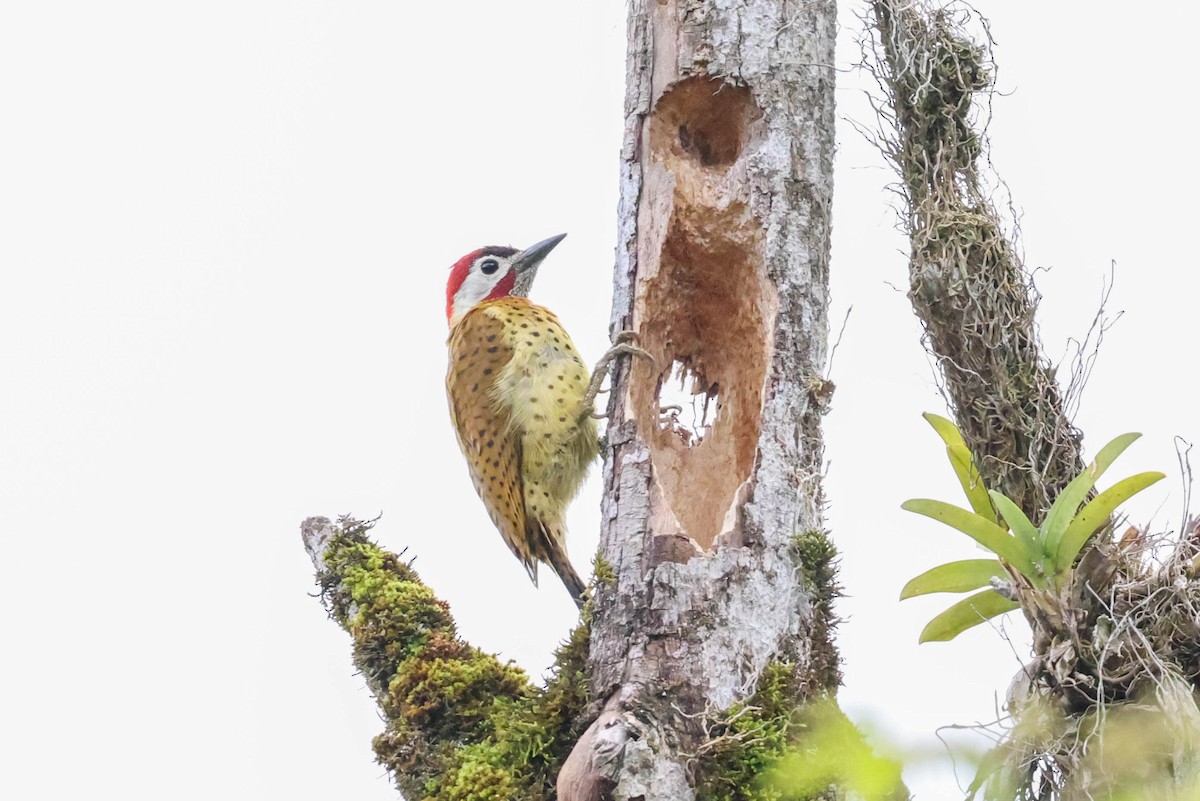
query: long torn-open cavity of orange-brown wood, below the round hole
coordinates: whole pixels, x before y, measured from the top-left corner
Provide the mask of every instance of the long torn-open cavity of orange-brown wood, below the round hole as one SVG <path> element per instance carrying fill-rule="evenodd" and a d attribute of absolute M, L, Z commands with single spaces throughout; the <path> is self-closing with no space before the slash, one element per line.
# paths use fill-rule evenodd
<path fill-rule="evenodd" d="M 676 205 L 640 327 L 655 363 L 670 367 L 636 360 L 630 377 L 664 500 L 704 550 L 740 544 L 738 489 L 758 442 L 769 314 L 750 217 L 737 204 Z"/>

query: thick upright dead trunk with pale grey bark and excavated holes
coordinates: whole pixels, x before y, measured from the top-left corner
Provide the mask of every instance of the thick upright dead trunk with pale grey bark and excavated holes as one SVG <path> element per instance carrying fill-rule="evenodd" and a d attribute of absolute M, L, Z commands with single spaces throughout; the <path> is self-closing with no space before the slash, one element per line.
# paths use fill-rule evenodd
<path fill-rule="evenodd" d="M 832 0 L 634 0 L 590 693 L 562 801 L 695 797 L 714 721 L 786 664 L 836 683 L 805 542 L 832 200 Z M 664 411 L 682 383 L 696 418 Z M 700 411 L 700 409 L 703 411 Z"/>

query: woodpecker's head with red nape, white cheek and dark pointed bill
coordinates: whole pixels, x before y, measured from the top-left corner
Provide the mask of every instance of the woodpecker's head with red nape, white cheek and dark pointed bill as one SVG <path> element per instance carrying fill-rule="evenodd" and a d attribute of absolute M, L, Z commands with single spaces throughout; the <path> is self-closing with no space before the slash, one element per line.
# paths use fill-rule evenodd
<path fill-rule="evenodd" d="M 446 320 L 454 325 L 485 300 L 524 297 L 538 265 L 566 234 L 544 239 L 532 247 L 481 247 L 455 261 L 446 282 Z"/>

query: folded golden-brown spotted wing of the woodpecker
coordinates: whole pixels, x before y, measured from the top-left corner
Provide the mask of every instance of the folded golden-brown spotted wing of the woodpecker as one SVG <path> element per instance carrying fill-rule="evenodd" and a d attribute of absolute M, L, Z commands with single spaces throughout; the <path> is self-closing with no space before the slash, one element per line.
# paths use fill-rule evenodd
<path fill-rule="evenodd" d="M 469 312 L 450 333 L 446 395 L 475 492 L 504 542 L 536 584 L 538 560 L 526 536 L 521 436 L 511 415 L 492 392 L 511 359 L 504 323 L 479 311 Z"/>

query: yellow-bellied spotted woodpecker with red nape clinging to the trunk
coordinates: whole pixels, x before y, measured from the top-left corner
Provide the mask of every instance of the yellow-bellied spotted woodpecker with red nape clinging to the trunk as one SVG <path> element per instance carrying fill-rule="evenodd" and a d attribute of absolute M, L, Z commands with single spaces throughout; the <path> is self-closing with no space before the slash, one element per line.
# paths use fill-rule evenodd
<path fill-rule="evenodd" d="M 546 562 L 582 607 L 565 513 L 600 452 L 595 387 L 558 318 L 527 297 L 564 236 L 520 252 L 479 248 L 450 267 L 446 396 L 475 492 L 504 542 L 535 586 Z"/>

